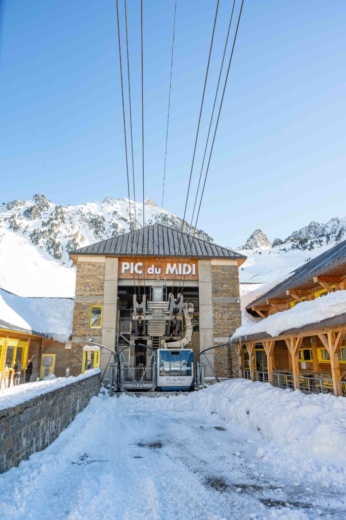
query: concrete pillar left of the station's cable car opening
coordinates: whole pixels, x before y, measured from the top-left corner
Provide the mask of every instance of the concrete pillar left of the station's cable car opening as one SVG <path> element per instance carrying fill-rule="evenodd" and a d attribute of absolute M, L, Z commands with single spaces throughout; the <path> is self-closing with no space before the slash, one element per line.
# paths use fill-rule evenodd
<path fill-rule="evenodd" d="M 101 329 L 101 345 L 110 348 L 116 346 L 117 329 L 117 298 L 118 298 L 118 258 L 106 257 L 105 259 L 105 280 L 104 280 L 104 301 Z M 100 369 L 103 372 L 111 353 L 106 349 L 101 349 Z M 105 379 L 109 378 L 109 370 L 105 374 Z"/>

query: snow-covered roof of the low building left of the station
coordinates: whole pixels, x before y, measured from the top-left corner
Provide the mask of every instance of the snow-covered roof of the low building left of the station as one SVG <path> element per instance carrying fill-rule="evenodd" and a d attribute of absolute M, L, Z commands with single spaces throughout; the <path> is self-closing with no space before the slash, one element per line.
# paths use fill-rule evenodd
<path fill-rule="evenodd" d="M 0 289 L 0 328 L 65 342 L 72 332 L 73 298 L 27 298 Z"/>

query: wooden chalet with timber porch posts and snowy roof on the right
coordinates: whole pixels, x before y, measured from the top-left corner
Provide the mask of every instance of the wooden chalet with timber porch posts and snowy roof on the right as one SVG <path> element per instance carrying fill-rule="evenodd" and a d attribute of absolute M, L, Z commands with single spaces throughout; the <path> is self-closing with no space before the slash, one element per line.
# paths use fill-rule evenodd
<path fill-rule="evenodd" d="M 309 393 L 345 396 L 345 289 L 346 241 L 343 241 L 252 301 L 246 310 L 260 321 L 250 327 L 251 333 L 247 333 L 245 326 L 232 337 L 233 348 L 237 348 L 239 376 Z M 345 293 L 312 304 L 339 291 Z M 327 302 L 334 305 L 329 317 L 323 308 Z M 281 322 L 287 322 L 287 329 L 283 326 L 273 336 L 266 329 L 277 313 L 283 313 L 280 318 Z M 297 322 L 300 325 L 292 328 L 292 323 Z"/>

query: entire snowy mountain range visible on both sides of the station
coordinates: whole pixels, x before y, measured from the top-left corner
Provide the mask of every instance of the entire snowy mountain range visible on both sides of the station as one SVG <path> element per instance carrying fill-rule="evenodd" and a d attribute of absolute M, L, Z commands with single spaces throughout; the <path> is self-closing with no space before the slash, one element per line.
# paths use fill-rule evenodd
<path fill-rule="evenodd" d="M 140 228 L 143 204 L 130 201 L 130 205 L 132 225 L 136 219 Z M 146 225 L 161 222 L 161 208 L 151 199 L 145 201 L 144 214 Z M 163 210 L 162 223 L 180 230 L 182 219 Z M 189 226 L 184 229 L 189 231 Z M 129 230 L 127 199 L 106 197 L 102 202 L 62 207 L 36 194 L 28 201 L 4 203 L 0 206 L 0 287 L 20 296 L 71 297 L 75 270 L 68 251 Z M 196 236 L 213 241 L 202 230 L 196 230 Z M 257 229 L 239 250 L 248 257 L 239 270 L 240 281 L 260 284 L 285 276 L 344 238 L 346 217 L 326 224 L 311 222 L 273 244 Z"/>

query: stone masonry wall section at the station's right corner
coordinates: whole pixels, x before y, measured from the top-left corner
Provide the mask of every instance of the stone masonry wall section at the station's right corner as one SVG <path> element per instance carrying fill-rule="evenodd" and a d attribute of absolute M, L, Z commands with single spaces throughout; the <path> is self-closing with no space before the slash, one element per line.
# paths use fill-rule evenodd
<path fill-rule="evenodd" d="M 241 324 L 239 274 L 237 265 L 212 265 L 212 300 L 214 345 L 225 343 Z M 214 369 L 217 375 L 238 377 L 237 347 L 214 350 Z"/>

